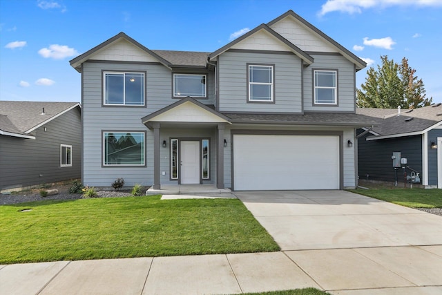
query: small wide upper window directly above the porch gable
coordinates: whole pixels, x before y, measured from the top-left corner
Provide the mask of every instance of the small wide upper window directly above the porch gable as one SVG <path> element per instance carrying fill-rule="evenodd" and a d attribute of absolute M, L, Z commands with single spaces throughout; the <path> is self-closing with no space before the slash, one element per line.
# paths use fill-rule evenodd
<path fill-rule="evenodd" d="M 206 75 L 173 74 L 174 97 L 206 97 Z"/>

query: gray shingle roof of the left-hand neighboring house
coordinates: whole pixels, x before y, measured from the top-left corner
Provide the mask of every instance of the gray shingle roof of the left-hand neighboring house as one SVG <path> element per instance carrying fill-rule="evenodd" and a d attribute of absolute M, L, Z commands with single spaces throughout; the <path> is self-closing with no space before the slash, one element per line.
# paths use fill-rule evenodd
<path fill-rule="evenodd" d="M 33 138 L 35 129 L 75 107 L 78 102 L 12 102 L 0 101 L 0 135 Z"/>

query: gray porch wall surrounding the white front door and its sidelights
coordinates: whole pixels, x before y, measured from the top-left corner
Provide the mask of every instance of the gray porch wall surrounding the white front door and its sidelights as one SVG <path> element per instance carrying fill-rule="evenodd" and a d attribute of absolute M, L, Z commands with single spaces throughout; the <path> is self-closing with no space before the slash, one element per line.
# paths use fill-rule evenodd
<path fill-rule="evenodd" d="M 160 143 L 166 140 L 166 148 L 160 147 L 160 183 L 177 184 L 178 180 L 171 180 L 171 139 L 191 140 L 195 138 L 209 139 L 209 180 L 203 180 L 203 184 L 216 183 L 216 142 L 215 128 L 213 129 L 160 129 Z M 201 146 L 200 146 L 201 152 Z M 180 153 L 180 147 L 178 148 Z M 162 172 L 165 175 L 162 175 Z"/>

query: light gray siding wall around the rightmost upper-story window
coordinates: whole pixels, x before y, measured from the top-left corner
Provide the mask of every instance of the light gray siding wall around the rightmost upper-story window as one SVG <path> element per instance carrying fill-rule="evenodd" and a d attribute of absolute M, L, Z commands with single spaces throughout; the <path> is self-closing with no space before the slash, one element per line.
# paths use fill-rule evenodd
<path fill-rule="evenodd" d="M 355 109 L 354 64 L 342 55 L 311 55 L 314 64 L 304 68 L 304 111 L 352 112 Z M 313 71 L 338 70 L 338 105 L 314 106 Z"/>

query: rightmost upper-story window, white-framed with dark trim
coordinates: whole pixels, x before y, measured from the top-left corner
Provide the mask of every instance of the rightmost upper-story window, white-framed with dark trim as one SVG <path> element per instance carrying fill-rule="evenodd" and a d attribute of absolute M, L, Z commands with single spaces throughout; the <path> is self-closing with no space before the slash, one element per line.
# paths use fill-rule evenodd
<path fill-rule="evenodd" d="M 314 103 L 337 104 L 337 70 L 314 70 Z"/>

